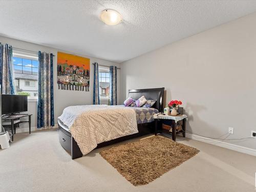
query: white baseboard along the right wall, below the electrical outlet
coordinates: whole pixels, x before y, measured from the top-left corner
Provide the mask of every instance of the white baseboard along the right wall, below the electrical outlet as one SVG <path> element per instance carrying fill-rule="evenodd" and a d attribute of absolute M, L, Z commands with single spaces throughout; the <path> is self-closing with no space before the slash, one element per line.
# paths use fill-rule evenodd
<path fill-rule="evenodd" d="M 254 150 L 253 148 L 248 148 L 248 147 L 244 147 L 244 146 L 240 146 L 240 145 L 236 145 L 236 144 L 231 144 L 231 143 L 219 141 L 217 139 L 210 139 L 208 137 L 202 137 L 202 136 L 189 134 L 189 133 L 186 133 L 186 137 L 189 138 L 189 139 L 194 139 L 194 140 L 197 140 L 197 141 L 202 141 L 202 142 L 205 142 L 205 143 L 209 143 L 209 144 L 217 145 L 217 146 L 220 146 L 220 147 L 228 148 L 229 150 L 233 150 L 233 151 L 245 153 L 245 154 L 248 154 L 248 155 L 256 156 L 256 150 Z"/>

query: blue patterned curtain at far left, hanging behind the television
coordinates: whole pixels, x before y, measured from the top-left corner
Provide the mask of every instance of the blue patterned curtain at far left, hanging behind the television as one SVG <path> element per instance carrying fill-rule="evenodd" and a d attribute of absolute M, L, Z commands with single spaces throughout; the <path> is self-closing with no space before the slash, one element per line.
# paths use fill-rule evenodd
<path fill-rule="evenodd" d="M 0 43 L 0 84 L 3 94 L 15 94 L 12 47 Z"/>

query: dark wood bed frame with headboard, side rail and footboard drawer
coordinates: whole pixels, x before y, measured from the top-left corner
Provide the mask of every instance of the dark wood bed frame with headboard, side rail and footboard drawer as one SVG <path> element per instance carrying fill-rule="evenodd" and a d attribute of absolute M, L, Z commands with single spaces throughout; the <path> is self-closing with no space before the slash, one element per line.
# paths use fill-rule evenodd
<path fill-rule="evenodd" d="M 152 107 L 157 109 L 159 112 L 162 112 L 163 111 L 163 94 L 164 94 L 164 88 L 137 89 L 137 90 L 129 90 L 127 94 L 127 98 L 132 97 L 133 99 L 137 100 L 142 95 L 144 95 L 146 99 L 157 100 Z M 71 154 L 72 159 L 82 157 L 80 148 L 77 145 L 74 138 L 72 137 L 71 133 L 69 132 L 69 128 L 65 124 L 63 124 L 59 119 L 58 119 L 58 126 L 59 126 L 59 132 L 58 132 L 59 142 L 61 146 Z M 127 135 L 124 137 L 119 137 L 110 141 L 99 143 L 96 148 L 100 148 L 106 145 L 114 144 L 114 143 L 121 142 L 128 139 L 132 139 L 142 135 L 154 133 L 154 121 L 150 123 L 138 124 L 138 131 L 139 133 L 136 133 L 136 134 Z"/>

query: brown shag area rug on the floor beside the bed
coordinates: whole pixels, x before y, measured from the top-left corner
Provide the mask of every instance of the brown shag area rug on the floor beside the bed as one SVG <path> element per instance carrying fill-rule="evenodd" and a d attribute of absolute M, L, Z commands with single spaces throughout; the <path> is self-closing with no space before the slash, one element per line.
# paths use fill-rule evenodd
<path fill-rule="evenodd" d="M 198 152 L 172 139 L 154 136 L 109 148 L 100 155 L 136 186 L 154 181 Z"/>

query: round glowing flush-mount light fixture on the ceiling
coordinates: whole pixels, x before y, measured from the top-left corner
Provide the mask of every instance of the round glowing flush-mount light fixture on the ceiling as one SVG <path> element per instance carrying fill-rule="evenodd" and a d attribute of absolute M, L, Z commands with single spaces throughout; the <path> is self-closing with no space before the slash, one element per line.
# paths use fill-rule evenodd
<path fill-rule="evenodd" d="M 101 12 L 100 19 L 106 25 L 117 25 L 122 22 L 122 15 L 113 9 L 105 9 Z"/>

